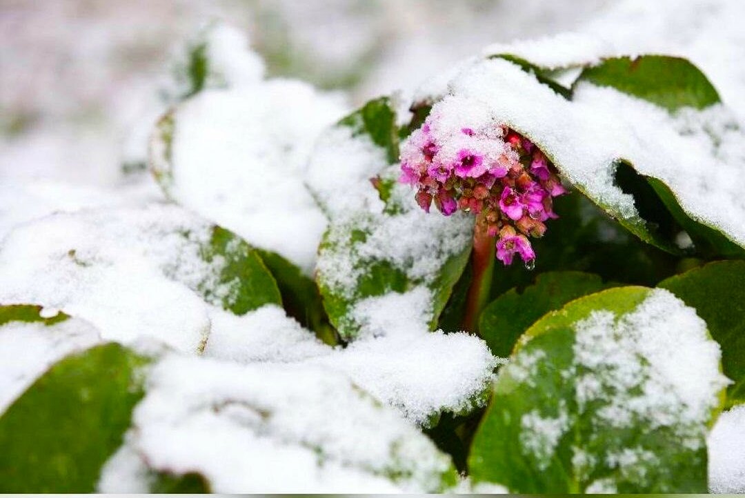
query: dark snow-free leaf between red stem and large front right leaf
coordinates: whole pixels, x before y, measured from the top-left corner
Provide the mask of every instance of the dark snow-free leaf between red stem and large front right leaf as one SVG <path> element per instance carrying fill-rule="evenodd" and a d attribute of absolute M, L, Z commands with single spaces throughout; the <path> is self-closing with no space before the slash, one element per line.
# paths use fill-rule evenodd
<path fill-rule="evenodd" d="M 591 273 L 542 273 L 522 293 L 513 288 L 486 306 L 479 318 L 479 335 L 493 354 L 508 357 L 517 339 L 541 316 L 607 287 L 610 286 Z"/>

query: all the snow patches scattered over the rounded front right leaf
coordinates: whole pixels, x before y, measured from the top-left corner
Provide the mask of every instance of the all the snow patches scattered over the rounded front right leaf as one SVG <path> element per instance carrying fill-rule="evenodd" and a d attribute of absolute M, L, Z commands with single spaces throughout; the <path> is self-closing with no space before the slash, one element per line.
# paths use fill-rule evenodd
<path fill-rule="evenodd" d="M 720 372 L 720 347 L 693 308 L 666 290 L 648 290 L 630 312 L 593 310 L 570 326 L 573 360 L 558 374 L 574 383 L 574 399 L 556 400 L 554 408 L 536 406 L 522 416 L 524 455 L 548 467 L 562 435 L 581 420 L 592 432 L 571 447 L 578 479 L 587 481 L 602 465 L 616 478 L 643 486 L 648 469 L 665 465 L 665 450 L 644 438 L 632 441 L 627 431 L 663 431 L 670 450 L 703 450 L 729 380 Z M 547 362 L 545 351 L 523 349 L 500 375 L 533 388 Z M 594 482 L 586 491 L 600 488 L 615 484 Z"/>

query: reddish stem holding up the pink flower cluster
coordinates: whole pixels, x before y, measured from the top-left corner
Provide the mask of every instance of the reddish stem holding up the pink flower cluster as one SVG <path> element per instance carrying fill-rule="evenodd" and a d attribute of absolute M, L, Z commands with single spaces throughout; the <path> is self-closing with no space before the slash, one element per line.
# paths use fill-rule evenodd
<path fill-rule="evenodd" d="M 485 220 L 481 216 L 476 218 L 473 233 L 473 251 L 471 261 L 473 266 L 473 280 L 466 297 L 466 315 L 463 317 L 463 329 L 478 333 L 478 317 L 489 302 L 492 290 L 492 274 L 494 272 L 496 237 L 489 237 L 486 232 Z"/>

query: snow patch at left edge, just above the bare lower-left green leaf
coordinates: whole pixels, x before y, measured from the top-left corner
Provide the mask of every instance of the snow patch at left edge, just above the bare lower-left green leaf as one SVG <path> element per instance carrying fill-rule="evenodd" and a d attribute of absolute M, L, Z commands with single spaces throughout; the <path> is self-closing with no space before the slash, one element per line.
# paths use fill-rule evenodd
<path fill-rule="evenodd" d="M 0 414 L 51 365 L 99 341 L 98 331 L 76 318 L 0 325 Z"/>

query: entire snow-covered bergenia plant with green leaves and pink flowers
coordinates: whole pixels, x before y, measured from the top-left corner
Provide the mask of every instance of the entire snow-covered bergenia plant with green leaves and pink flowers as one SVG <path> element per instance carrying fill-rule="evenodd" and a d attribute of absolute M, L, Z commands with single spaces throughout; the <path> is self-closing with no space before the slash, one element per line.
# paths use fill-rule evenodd
<path fill-rule="evenodd" d="M 208 28 L 147 188 L 2 188 L 0 492 L 745 492 L 745 126 L 576 41 L 352 111 Z"/>

